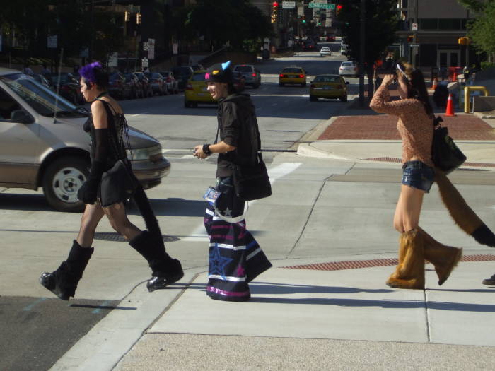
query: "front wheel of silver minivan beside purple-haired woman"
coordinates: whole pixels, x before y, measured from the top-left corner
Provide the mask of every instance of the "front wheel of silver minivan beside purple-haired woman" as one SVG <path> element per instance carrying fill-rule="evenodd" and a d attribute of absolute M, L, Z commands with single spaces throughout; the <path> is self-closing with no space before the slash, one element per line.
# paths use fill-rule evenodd
<path fill-rule="evenodd" d="M 77 192 L 89 175 L 88 161 L 81 157 L 64 157 L 48 165 L 43 175 L 43 193 L 48 204 L 58 211 L 83 211 Z"/>

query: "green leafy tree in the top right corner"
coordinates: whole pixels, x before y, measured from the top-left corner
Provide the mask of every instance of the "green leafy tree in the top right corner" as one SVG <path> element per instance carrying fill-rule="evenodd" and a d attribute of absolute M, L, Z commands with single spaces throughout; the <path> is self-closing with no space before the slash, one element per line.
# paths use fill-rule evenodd
<path fill-rule="evenodd" d="M 467 23 L 467 35 L 472 45 L 480 52 L 486 52 L 489 62 L 495 63 L 495 1 L 486 4 L 483 13 Z"/>

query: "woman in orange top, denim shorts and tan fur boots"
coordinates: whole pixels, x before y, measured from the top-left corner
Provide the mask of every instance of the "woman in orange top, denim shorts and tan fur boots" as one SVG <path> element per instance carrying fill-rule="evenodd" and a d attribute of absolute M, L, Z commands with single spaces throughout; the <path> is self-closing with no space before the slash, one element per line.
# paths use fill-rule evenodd
<path fill-rule="evenodd" d="M 394 227 L 400 232 L 399 264 L 386 283 L 393 288 L 424 289 L 425 259 L 435 266 L 438 285 L 442 285 L 458 264 L 462 249 L 442 245 L 419 227 L 423 196 L 436 178 L 431 160 L 433 109 L 419 69 L 397 64 L 401 99 L 389 102 L 388 86 L 394 78 L 384 76 L 370 103 L 376 112 L 399 117 L 397 130 L 402 138 L 402 184 L 394 216 Z"/>

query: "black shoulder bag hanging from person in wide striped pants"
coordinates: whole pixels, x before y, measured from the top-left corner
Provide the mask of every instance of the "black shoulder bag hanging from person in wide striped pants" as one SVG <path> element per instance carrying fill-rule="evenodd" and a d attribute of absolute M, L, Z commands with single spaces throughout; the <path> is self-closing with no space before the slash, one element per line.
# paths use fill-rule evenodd
<path fill-rule="evenodd" d="M 264 199 L 264 197 L 272 195 L 272 185 L 268 177 L 267 167 L 264 165 L 260 152 L 258 152 L 256 165 L 233 165 L 232 170 L 235 195 L 241 200 Z"/>

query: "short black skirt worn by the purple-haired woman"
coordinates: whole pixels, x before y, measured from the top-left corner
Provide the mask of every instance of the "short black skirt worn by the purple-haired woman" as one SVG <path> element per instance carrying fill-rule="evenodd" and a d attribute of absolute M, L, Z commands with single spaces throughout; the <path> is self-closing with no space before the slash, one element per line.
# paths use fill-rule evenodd
<path fill-rule="evenodd" d="M 101 177 L 100 199 L 102 206 L 110 206 L 132 197 L 139 185 L 130 165 L 117 160 Z"/>

